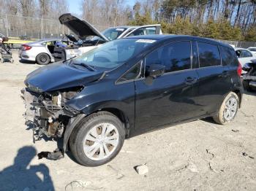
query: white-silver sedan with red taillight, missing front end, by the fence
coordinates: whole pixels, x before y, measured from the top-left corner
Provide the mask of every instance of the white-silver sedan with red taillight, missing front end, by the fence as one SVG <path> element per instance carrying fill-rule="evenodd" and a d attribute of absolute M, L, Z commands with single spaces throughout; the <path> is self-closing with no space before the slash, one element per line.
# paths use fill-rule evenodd
<path fill-rule="evenodd" d="M 42 65 L 54 62 L 52 54 L 56 42 L 61 42 L 61 39 L 42 39 L 22 44 L 19 57 L 24 61 L 36 61 Z"/>

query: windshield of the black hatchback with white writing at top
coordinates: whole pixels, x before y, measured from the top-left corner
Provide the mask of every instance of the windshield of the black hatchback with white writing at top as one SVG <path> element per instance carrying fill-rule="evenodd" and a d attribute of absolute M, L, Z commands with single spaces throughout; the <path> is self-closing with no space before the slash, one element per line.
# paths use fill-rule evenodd
<path fill-rule="evenodd" d="M 152 39 L 118 39 L 74 58 L 72 63 L 86 64 L 94 68 L 116 68 L 154 42 L 155 40 Z"/>

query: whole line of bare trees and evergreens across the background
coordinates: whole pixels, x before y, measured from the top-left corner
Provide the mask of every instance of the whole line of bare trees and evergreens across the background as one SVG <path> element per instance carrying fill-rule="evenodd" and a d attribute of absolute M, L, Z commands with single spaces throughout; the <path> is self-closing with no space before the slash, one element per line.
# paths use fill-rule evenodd
<path fill-rule="evenodd" d="M 67 0 L 0 0 L 0 33 L 67 32 L 59 16 L 69 12 Z M 83 19 L 99 30 L 110 26 L 161 23 L 166 34 L 189 34 L 214 39 L 256 41 L 256 0 L 81 0 Z M 14 15 L 8 17 L 4 14 Z M 21 17 L 22 16 L 22 17 Z M 45 21 L 42 22 L 40 19 Z"/>

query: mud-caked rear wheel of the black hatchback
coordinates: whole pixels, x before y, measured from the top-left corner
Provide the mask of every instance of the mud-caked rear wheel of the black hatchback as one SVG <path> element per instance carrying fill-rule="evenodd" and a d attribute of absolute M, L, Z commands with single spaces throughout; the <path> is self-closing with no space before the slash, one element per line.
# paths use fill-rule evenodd
<path fill-rule="evenodd" d="M 232 104 L 233 103 L 233 104 Z M 217 116 L 214 116 L 214 121 L 220 125 L 225 125 L 231 122 L 238 112 L 239 98 L 236 93 L 230 92 L 225 97 L 222 105 L 219 108 Z"/>

